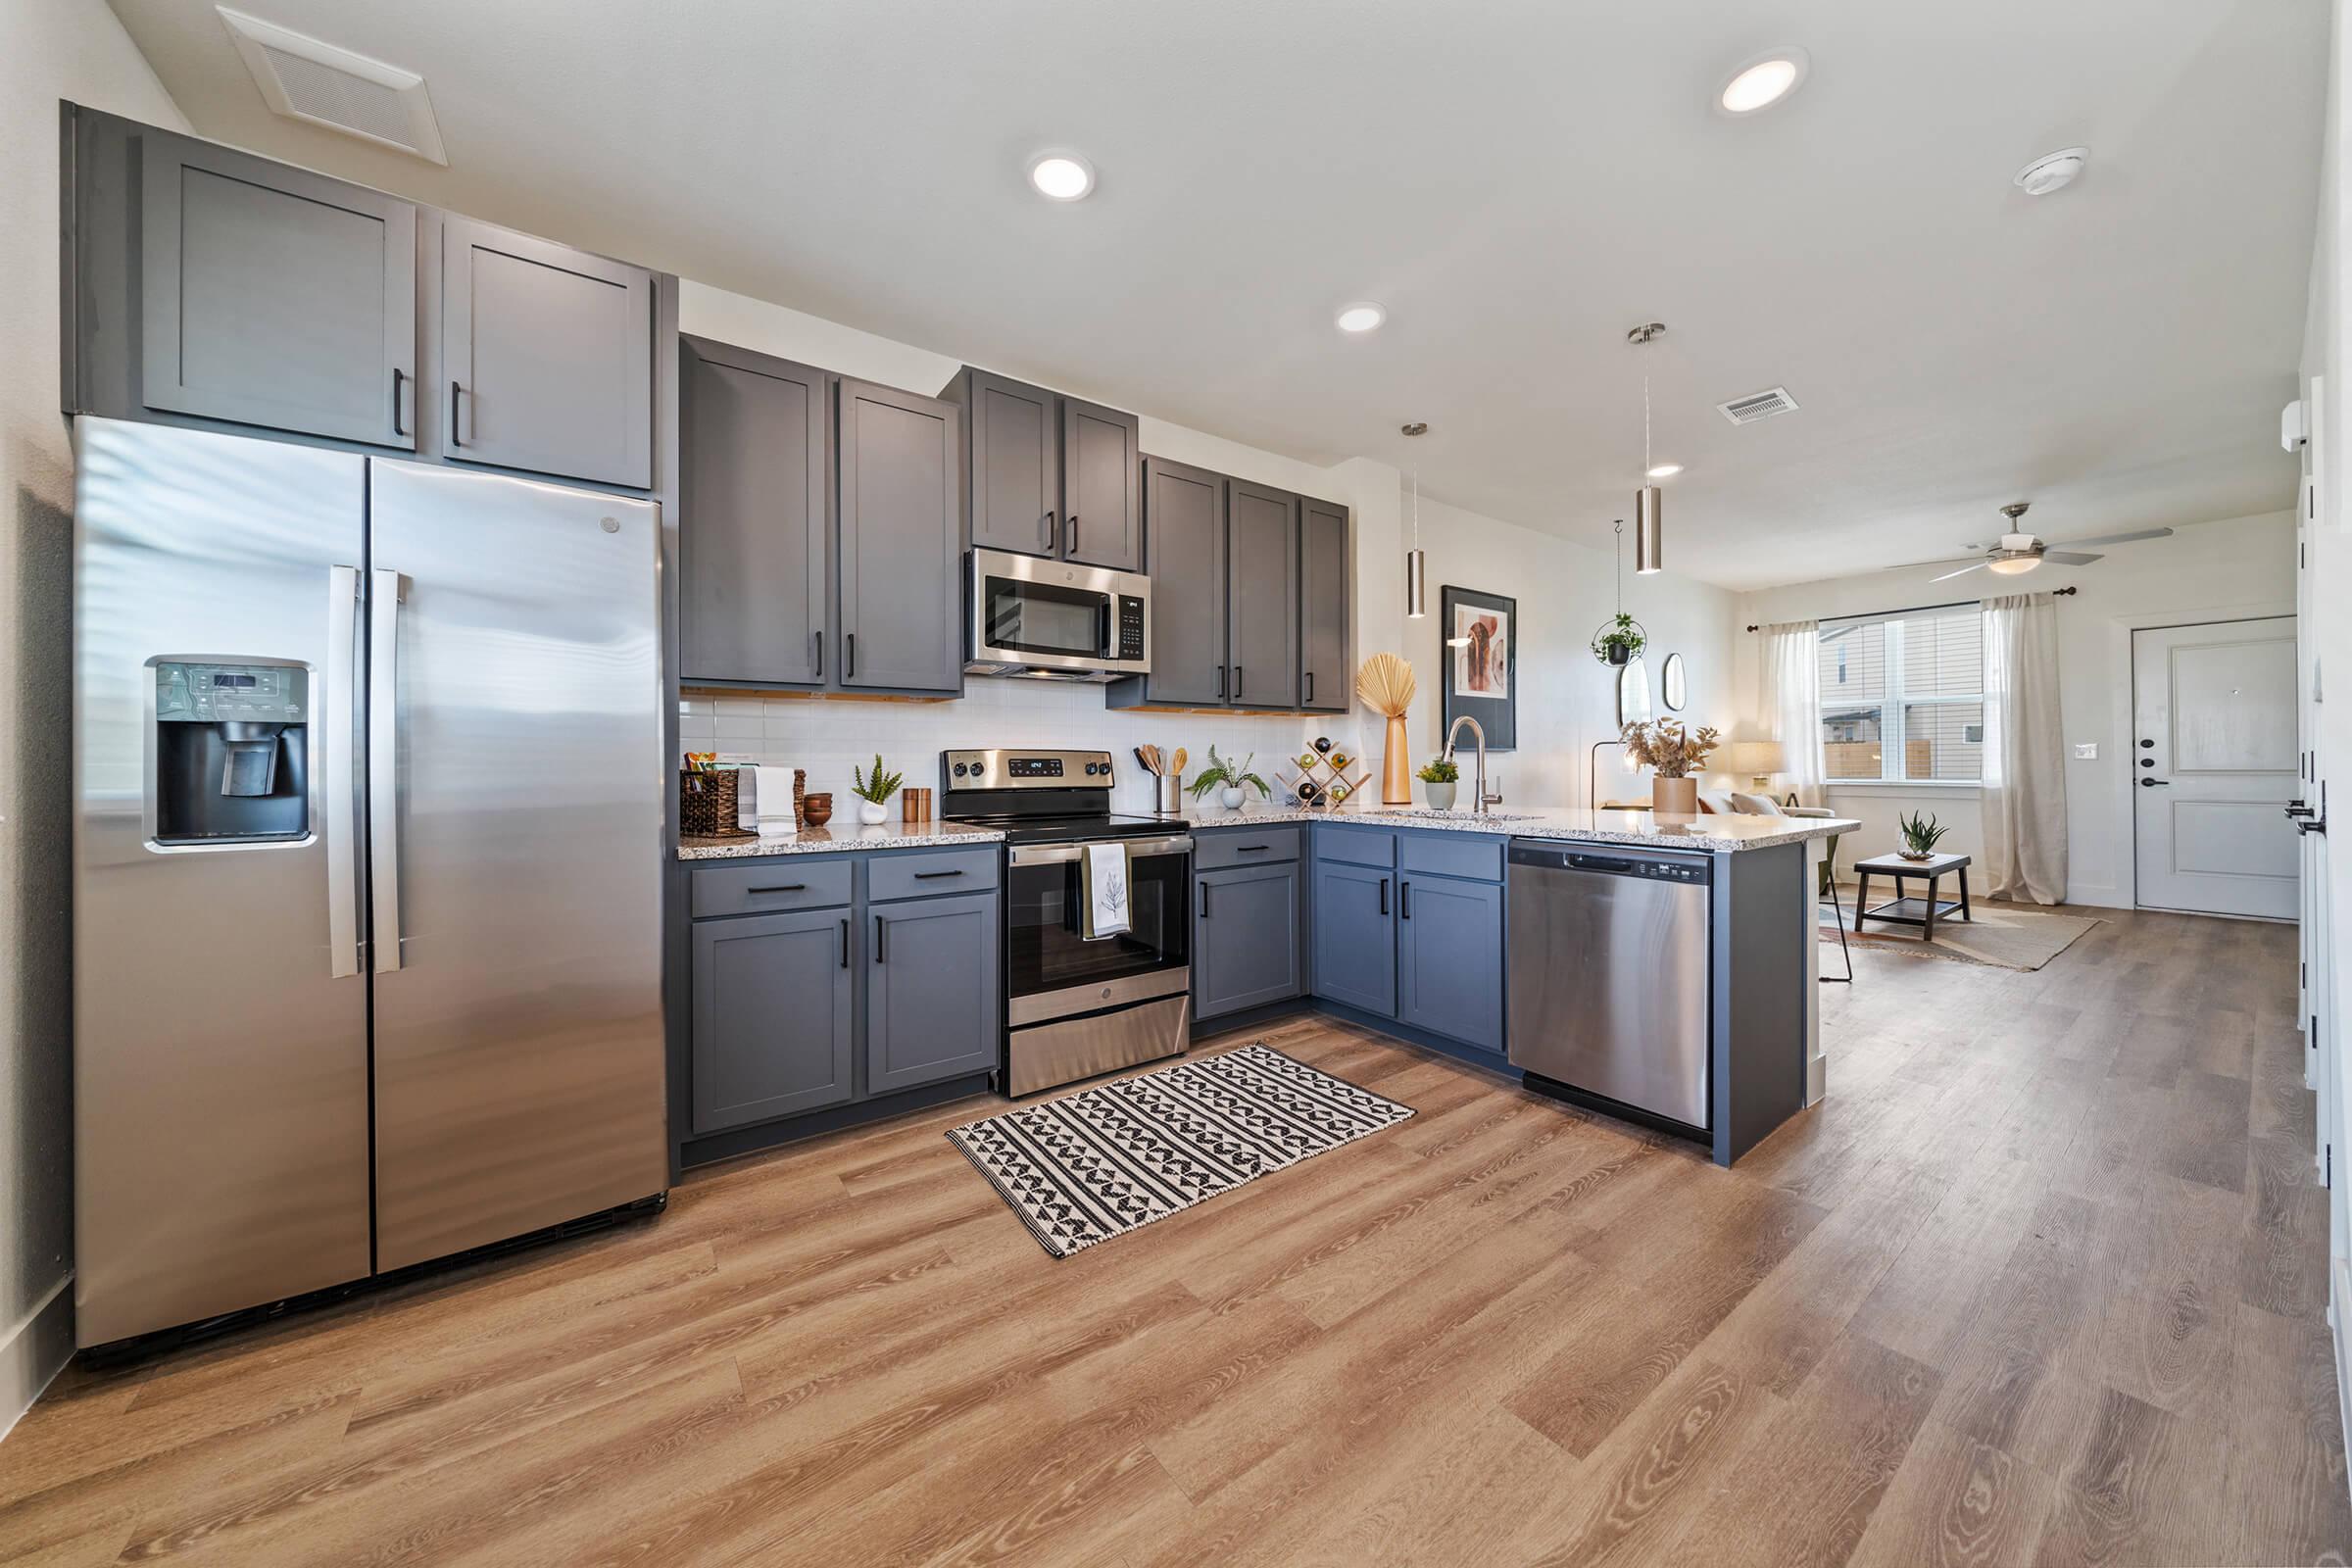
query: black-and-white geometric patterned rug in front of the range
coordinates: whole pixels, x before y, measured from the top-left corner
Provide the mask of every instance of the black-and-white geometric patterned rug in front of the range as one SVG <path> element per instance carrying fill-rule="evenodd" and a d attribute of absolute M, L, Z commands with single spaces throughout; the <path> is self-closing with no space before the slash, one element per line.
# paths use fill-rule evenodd
<path fill-rule="evenodd" d="M 948 1143 L 1068 1258 L 1411 1114 L 1249 1044 L 967 1121 Z"/>

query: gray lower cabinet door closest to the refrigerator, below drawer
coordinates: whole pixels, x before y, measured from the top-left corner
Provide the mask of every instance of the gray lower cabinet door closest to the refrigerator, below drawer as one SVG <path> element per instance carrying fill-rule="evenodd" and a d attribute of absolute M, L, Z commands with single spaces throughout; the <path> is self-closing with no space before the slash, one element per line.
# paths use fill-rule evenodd
<path fill-rule="evenodd" d="M 694 924 L 694 1133 L 851 1098 L 849 910 Z"/>

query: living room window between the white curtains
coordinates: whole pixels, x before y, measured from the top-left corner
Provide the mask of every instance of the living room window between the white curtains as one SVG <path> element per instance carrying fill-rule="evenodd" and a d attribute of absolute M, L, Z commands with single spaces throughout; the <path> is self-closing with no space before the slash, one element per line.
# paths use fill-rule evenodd
<path fill-rule="evenodd" d="M 1820 741 L 1835 783 L 1983 778 L 1983 611 L 1825 623 Z"/>

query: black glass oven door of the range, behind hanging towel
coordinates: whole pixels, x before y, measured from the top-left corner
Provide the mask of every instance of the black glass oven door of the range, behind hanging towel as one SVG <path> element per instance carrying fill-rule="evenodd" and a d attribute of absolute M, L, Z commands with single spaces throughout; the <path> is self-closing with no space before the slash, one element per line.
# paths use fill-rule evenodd
<path fill-rule="evenodd" d="M 1192 839 L 1127 839 L 1127 931 L 1080 936 L 1082 844 L 1016 844 L 1007 896 L 1011 1027 L 1098 1013 L 1192 985 Z"/>

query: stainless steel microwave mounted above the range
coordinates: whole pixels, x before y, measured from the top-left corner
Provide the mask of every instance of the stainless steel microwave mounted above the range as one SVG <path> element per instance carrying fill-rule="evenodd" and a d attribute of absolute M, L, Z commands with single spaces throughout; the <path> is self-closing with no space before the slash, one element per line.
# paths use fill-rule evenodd
<path fill-rule="evenodd" d="M 1152 581 L 1011 550 L 971 552 L 971 675 L 1110 682 L 1152 668 Z"/>

